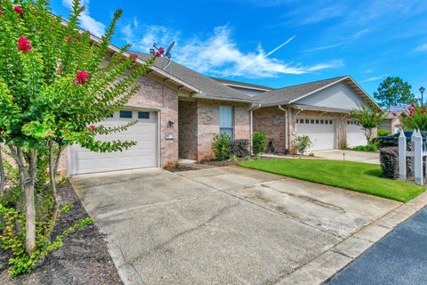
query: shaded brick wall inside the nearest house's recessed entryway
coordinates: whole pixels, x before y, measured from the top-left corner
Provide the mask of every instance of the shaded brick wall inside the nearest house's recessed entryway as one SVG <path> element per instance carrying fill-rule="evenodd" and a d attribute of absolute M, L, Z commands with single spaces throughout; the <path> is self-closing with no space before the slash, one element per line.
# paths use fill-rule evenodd
<path fill-rule="evenodd" d="M 197 102 L 178 103 L 180 159 L 197 160 Z"/>

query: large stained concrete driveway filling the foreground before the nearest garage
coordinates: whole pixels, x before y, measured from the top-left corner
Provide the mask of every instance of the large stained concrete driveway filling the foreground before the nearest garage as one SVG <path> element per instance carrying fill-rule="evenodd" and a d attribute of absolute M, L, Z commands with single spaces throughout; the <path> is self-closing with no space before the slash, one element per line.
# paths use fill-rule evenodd
<path fill-rule="evenodd" d="M 400 205 L 242 167 L 144 169 L 71 183 L 127 284 L 298 283 L 289 276 L 304 265 L 321 274 L 350 262 L 345 250 L 330 249 Z M 357 241 L 356 251 L 372 244 Z"/>

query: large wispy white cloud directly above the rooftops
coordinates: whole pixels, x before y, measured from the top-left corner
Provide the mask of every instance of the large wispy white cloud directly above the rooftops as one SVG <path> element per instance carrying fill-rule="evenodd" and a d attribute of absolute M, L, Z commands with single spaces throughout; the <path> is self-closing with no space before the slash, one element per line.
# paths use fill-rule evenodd
<path fill-rule="evenodd" d="M 136 50 L 147 53 L 153 43 L 169 45 L 176 41 L 173 48 L 173 60 L 190 69 L 217 77 L 276 77 L 283 74 L 304 74 L 321 69 L 333 69 L 342 66 L 342 61 L 322 62 L 312 66 L 301 63 L 291 64 L 277 58 L 269 57 L 272 53 L 266 53 L 259 45 L 253 52 L 243 52 L 232 39 L 231 30 L 227 26 L 214 28 L 214 32 L 208 37 L 191 37 L 181 40 L 181 32 L 174 32 L 163 26 L 146 26 L 143 28 L 143 36 L 136 36 L 136 28 L 133 24 L 122 28 L 125 39 L 132 43 Z M 290 37 L 284 44 L 294 39 Z M 277 49 L 274 49 L 274 53 Z"/>

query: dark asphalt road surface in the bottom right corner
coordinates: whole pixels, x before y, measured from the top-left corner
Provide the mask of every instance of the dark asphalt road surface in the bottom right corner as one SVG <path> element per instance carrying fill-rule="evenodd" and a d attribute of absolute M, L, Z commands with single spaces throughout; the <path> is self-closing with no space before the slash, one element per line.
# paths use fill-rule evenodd
<path fill-rule="evenodd" d="M 427 208 L 400 224 L 327 284 L 427 284 Z"/>

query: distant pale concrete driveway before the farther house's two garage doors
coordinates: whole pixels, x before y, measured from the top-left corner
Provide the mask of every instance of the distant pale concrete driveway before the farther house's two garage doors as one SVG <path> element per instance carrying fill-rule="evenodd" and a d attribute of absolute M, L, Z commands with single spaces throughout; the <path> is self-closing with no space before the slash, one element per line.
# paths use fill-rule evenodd
<path fill-rule="evenodd" d="M 349 151 L 349 150 L 326 150 L 313 151 L 316 158 L 333 159 L 333 160 L 349 160 L 380 164 L 380 153 L 371 151 Z"/>

